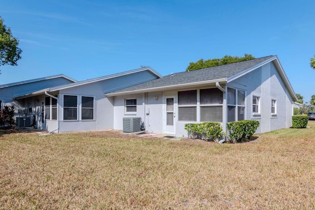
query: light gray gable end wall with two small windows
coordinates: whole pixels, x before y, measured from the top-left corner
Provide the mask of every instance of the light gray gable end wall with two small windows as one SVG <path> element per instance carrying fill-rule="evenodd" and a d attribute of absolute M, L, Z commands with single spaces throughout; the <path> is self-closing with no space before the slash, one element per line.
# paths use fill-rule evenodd
<path fill-rule="evenodd" d="M 259 121 L 260 126 L 256 133 L 291 126 L 292 98 L 273 62 L 228 83 L 227 86 L 246 90 L 246 119 Z M 252 96 L 260 97 L 261 115 L 252 113 Z M 277 115 L 271 115 L 272 99 L 277 100 Z"/>

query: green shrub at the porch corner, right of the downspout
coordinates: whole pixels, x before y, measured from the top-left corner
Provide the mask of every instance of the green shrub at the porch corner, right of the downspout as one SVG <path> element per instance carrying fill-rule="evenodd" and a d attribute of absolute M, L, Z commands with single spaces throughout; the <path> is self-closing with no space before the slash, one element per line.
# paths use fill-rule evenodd
<path fill-rule="evenodd" d="M 259 127 L 257 120 L 240 120 L 226 124 L 228 139 L 231 143 L 236 143 L 244 139 L 251 139 Z"/>

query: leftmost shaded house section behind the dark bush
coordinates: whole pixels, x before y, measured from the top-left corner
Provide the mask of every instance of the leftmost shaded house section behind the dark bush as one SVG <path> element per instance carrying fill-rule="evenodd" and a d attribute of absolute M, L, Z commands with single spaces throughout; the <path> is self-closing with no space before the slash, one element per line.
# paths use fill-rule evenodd
<path fill-rule="evenodd" d="M 43 77 L 38 79 L 26 80 L 22 82 L 0 85 L 0 108 L 3 106 L 14 105 L 16 117 L 29 117 L 31 124 L 39 129 L 45 129 L 44 123 L 44 105 L 45 97 L 15 99 L 17 95 L 28 94 L 33 91 L 42 90 L 49 87 L 60 86 L 75 83 L 76 80 L 63 74 Z"/>

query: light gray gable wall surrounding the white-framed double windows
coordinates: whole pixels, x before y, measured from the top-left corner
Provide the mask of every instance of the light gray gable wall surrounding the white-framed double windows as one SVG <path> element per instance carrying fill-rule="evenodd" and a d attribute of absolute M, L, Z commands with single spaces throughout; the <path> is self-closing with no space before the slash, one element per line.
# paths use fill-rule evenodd
<path fill-rule="evenodd" d="M 157 76 L 149 71 L 141 71 L 133 74 L 128 74 L 120 77 L 115 77 L 87 85 L 81 85 L 74 88 L 60 90 L 60 105 L 59 105 L 59 132 L 79 131 L 79 130 L 104 130 L 104 129 L 123 129 L 115 126 L 119 124 L 116 117 L 114 118 L 114 97 L 106 97 L 104 94 L 113 90 L 119 90 L 135 84 L 143 83 L 149 80 L 156 79 Z M 63 120 L 63 95 L 79 96 L 94 96 L 95 97 L 95 120 L 79 120 L 80 119 L 80 103 L 78 104 L 78 120 Z M 142 108 L 143 94 L 137 95 L 137 103 L 140 107 L 139 115 L 144 119 L 144 111 Z M 131 96 L 130 96 L 131 97 Z M 133 97 L 133 96 L 132 96 Z M 125 106 L 123 106 L 125 107 Z M 119 107 L 118 107 L 119 109 Z M 137 115 L 138 115 L 137 110 Z M 124 112 L 123 112 L 124 113 Z M 145 120 L 145 119 L 144 119 Z M 122 121 L 122 120 L 121 120 Z M 116 124 L 115 124 L 116 123 Z M 122 123 L 121 123 L 122 126 Z M 51 128 L 48 127 L 48 130 Z"/>

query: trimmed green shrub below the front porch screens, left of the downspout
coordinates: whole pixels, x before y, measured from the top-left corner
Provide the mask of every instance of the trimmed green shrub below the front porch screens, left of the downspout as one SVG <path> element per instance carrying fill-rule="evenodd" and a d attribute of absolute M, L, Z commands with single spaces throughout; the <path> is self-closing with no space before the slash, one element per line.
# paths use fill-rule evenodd
<path fill-rule="evenodd" d="M 206 141 L 220 141 L 225 135 L 219 122 L 202 122 L 185 124 L 185 129 L 192 139 L 201 138 Z"/>

